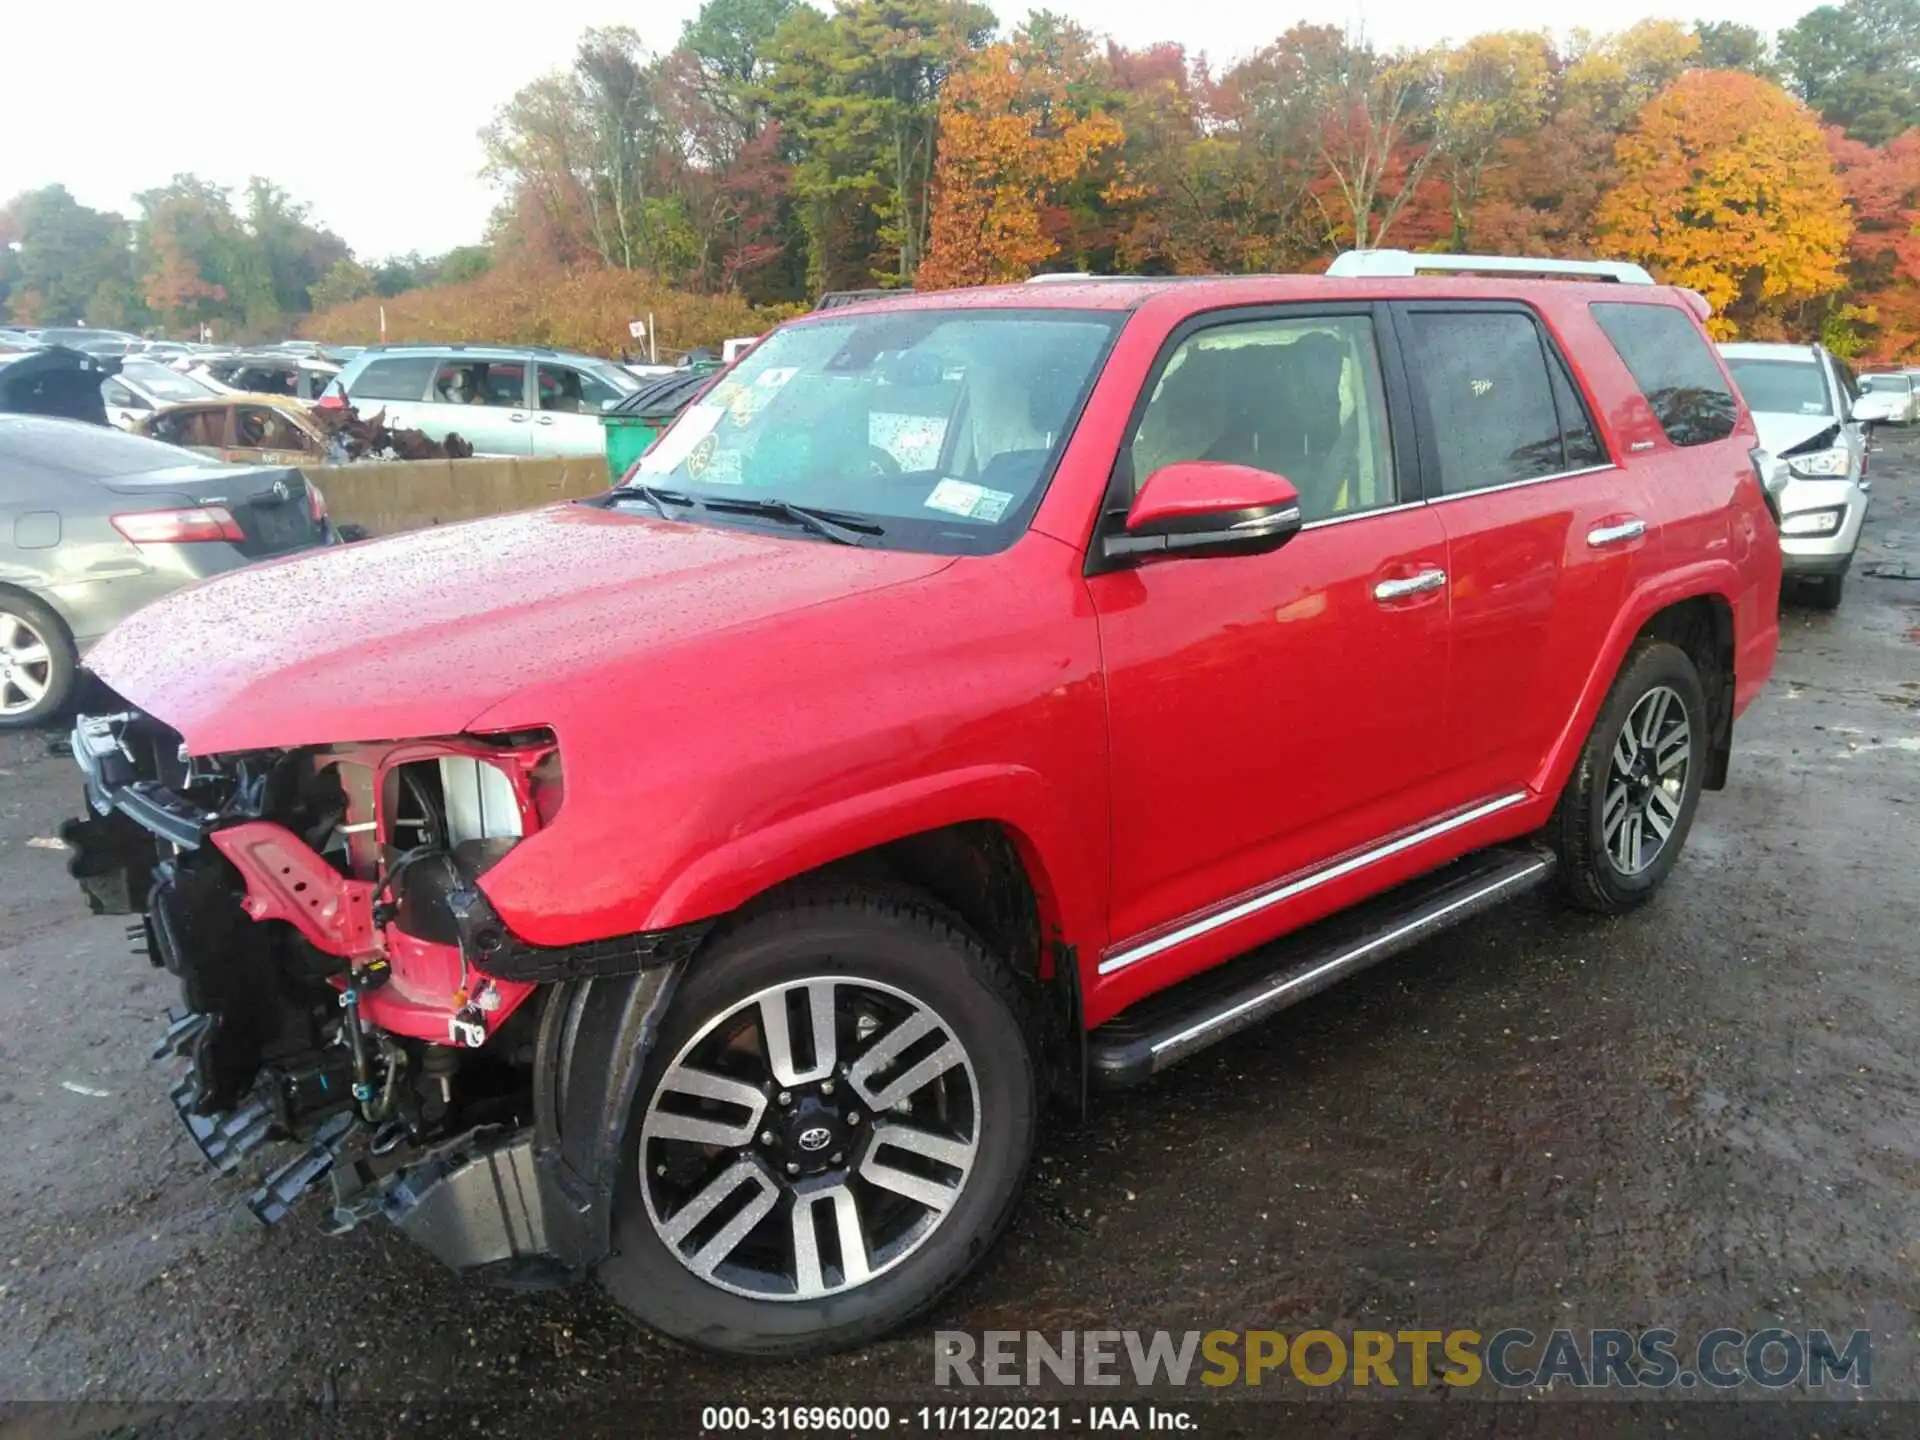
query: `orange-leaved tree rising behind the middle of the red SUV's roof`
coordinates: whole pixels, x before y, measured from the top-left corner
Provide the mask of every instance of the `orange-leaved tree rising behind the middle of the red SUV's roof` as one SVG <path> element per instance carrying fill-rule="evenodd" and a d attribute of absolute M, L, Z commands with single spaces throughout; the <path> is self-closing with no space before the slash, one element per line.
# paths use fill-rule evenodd
<path fill-rule="evenodd" d="M 1066 75 L 1027 44 L 987 46 L 941 96 L 933 225 L 916 288 L 1025 280 L 1060 250 L 1046 205 L 1121 140 L 1106 111 L 1073 111 Z"/>

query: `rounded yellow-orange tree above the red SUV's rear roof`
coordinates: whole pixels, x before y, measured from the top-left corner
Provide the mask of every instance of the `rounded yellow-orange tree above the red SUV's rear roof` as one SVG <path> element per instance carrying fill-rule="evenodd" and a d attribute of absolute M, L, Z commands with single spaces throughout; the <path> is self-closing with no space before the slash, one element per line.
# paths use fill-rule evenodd
<path fill-rule="evenodd" d="M 1853 219 L 1818 121 L 1780 86 L 1690 71 L 1647 102 L 1613 154 L 1599 250 L 1703 294 L 1716 334 L 1845 284 Z"/>

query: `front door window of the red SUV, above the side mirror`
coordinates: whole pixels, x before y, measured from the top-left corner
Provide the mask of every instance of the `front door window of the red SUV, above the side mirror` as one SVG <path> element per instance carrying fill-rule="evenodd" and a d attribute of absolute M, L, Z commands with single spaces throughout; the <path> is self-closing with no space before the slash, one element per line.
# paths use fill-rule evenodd
<path fill-rule="evenodd" d="M 1129 461 L 1135 486 L 1175 461 L 1267 470 L 1300 492 L 1308 522 L 1392 505 L 1373 321 L 1260 319 L 1181 342 L 1140 413 Z"/>

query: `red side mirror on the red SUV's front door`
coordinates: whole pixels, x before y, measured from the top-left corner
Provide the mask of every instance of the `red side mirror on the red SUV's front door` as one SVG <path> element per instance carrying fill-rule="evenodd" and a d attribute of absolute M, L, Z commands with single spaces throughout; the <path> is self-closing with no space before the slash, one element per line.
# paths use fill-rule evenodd
<path fill-rule="evenodd" d="M 1106 559 L 1265 555 L 1300 534 L 1300 492 L 1252 465 L 1175 461 L 1146 476 Z"/>

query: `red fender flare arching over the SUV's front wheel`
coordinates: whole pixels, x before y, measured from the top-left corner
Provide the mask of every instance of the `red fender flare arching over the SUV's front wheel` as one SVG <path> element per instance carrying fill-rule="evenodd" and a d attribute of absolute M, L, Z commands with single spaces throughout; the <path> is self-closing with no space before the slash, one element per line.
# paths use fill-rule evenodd
<path fill-rule="evenodd" d="M 1062 943 L 1098 952 L 1104 914 L 1098 885 L 1091 881 L 1100 856 L 1083 854 L 1052 781 L 1020 764 L 914 776 L 737 835 L 693 856 L 668 879 L 647 914 L 647 929 L 737 910 L 808 870 L 964 822 L 1004 826 L 1027 866 L 1043 924 L 1056 927 Z"/>

